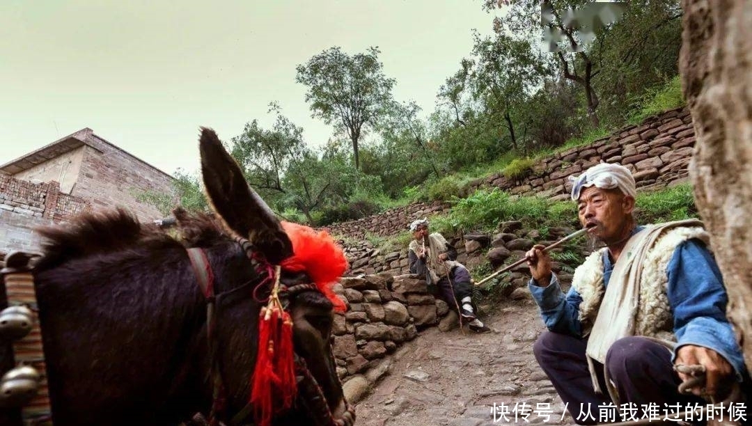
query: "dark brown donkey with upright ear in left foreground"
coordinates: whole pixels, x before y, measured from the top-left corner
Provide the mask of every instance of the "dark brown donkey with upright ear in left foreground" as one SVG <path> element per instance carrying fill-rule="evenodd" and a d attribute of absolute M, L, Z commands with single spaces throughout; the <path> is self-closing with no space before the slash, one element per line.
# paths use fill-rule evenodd
<path fill-rule="evenodd" d="M 218 402 L 207 302 L 186 247 L 201 247 L 214 274 L 211 339 L 223 382 L 217 420 L 253 420 L 246 415 L 249 379 L 261 301 L 270 292 L 258 259 L 279 264 L 293 255 L 293 243 L 217 134 L 202 128 L 199 147 L 214 216 L 176 210 L 183 241 L 123 210 L 39 230 L 46 242 L 33 273 L 56 426 L 176 425 L 196 412 L 208 415 Z M 281 282 L 292 289 L 310 279 L 285 272 Z M 287 302 L 296 359 L 307 374 L 298 377 L 293 405 L 272 424 L 352 424 L 330 346 L 332 301 L 303 291 Z M 0 424 L 18 420 L 2 415 Z"/>

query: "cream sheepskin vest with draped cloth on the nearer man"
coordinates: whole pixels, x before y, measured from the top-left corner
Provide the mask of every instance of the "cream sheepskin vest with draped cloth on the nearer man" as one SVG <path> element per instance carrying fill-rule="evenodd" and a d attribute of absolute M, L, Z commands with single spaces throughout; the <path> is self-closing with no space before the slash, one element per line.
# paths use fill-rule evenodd
<path fill-rule="evenodd" d="M 614 264 L 608 291 L 603 283 L 603 256 L 608 249 L 593 252 L 575 270 L 572 286 L 581 295 L 579 319 L 583 335 L 590 334 L 586 358 L 593 389 L 602 394 L 593 359 L 605 363 L 606 353 L 618 339 L 644 336 L 672 348 L 676 342 L 673 316 L 667 295 L 667 267 L 676 247 L 692 238 L 706 245 L 709 236 L 702 222 L 691 219 L 647 226 L 627 241 Z M 604 368 L 608 394 L 619 403 L 616 388 Z"/>

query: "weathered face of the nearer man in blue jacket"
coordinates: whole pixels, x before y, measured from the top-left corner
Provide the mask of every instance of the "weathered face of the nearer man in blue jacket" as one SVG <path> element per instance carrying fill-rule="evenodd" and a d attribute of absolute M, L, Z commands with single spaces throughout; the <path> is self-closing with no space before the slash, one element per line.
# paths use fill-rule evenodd
<path fill-rule="evenodd" d="M 631 231 L 626 230 L 626 225 L 635 208 L 635 199 L 619 189 L 586 188 L 577 208 L 580 223 L 606 244 L 622 239 L 623 233 Z"/>

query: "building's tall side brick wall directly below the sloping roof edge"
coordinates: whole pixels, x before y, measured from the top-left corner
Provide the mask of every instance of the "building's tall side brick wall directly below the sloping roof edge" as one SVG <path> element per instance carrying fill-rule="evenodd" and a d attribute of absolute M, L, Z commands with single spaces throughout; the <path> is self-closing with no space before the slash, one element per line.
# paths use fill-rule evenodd
<path fill-rule="evenodd" d="M 71 195 L 89 200 L 92 207 L 126 207 L 142 222 L 162 219 L 156 207 L 135 196 L 144 191 L 171 194 L 172 177 L 96 134 L 88 135 L 87 144 Z"/>

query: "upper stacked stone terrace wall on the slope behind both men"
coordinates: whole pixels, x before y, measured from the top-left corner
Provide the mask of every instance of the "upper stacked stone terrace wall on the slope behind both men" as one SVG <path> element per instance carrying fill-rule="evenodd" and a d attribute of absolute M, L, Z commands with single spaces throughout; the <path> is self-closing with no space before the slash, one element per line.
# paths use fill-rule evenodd
<path fill-rule="evenodd" d="M 569 176 L 581 174 L 599 162 L 618 163 L 635 175 L 638 190 L 658 189 L 688 180 L 695 144 L 692 116 L 686 108 L 668 110 L 629 125 L 593 144 L 575 147 L 537 160 L 528 176 L 511 180 L 501 171 L 468 186 L 464 194 L 476 189 L 499 188 L 514 195 L 538 195 L 553 200 L 569 197 Z M 414 219 L 443 213 L 449 204 L 414 203 L 357 219 L 330 225 L 333 234 L 362 240 L 366 235 L 386 237 L 407 231 Z"/>

